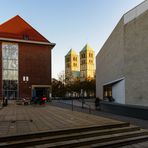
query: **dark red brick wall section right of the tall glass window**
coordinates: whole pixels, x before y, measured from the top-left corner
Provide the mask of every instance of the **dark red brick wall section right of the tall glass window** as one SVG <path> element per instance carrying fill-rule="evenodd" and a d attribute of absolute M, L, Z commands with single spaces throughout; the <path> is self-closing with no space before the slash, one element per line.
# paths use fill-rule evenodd
<path fill-rule="evenodd" d="M 51 84 L 51 48 L 49 45 L 19 43 L 20 97 L 31 96 L 32 85 Z M 25 83 L 23 76 L 28 76 Z"/>

